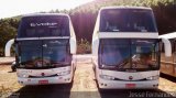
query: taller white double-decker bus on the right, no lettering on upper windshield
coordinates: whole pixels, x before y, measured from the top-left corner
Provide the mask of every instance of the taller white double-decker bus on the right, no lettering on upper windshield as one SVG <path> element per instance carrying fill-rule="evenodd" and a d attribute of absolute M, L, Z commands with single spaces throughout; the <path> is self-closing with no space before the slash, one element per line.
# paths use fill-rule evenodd
<path fill-rule="evenodd" d="M 151 8 L 102 8 L 92 35 L 99 88 L 157 88 L 161 41 Z M 170 44 L 163 41 L 170 56 Z"/>

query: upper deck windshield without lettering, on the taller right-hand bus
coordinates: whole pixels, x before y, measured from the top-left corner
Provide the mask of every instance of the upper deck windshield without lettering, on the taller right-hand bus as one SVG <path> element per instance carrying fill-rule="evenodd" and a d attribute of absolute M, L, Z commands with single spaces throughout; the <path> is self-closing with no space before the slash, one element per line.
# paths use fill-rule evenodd
<path fill-rule="evenodd" d="M 100 32 L 157 32 L 152 10 L 105 9 L 100 14 Z"/>

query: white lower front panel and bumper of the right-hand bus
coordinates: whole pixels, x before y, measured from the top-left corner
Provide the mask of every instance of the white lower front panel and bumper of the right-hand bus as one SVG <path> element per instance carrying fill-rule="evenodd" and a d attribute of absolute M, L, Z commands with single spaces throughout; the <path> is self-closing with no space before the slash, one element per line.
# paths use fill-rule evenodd
<path fill-rule="evenodd" d="M 144 77 L 158 76 L 160 70 L 151 70 L 151 72 L 138 72 L 138 73 L 124 73 L 124 72 L 113 72 L 113 70 L 98 70 L 101 72 L 99 75 L 108 75 L 116 78 L 121 78 L 123 80 L 106 80 L 102 78 L 98 78 L 100 88 L 127 88 L 128 84 L 134 84 L 135 87 L 132 88 L 157 88 L 158 79 L 155 80 L 140 80 Z M 133 76 L 133 80 L 129 80 L 129 76 Z M 129 80 L 129 81 L 128 81 Z M 103 85 L 101 85 L 103 84 Z M 105 86 L 105 84 L 107 84 Z"/>

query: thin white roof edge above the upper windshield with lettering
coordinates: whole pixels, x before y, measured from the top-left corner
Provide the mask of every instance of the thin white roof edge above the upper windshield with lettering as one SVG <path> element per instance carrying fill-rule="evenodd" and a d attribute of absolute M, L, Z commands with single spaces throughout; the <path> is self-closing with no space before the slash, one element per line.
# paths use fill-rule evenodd
<path fill-rule="evenodd" d="M 42 17 L 42 15 L 64 15 L 64 17 L 68 17 L 68 14 L 66 13 L 30 13 L 30 14 L 24 14 L 23 18 L 26 17 Z"/>

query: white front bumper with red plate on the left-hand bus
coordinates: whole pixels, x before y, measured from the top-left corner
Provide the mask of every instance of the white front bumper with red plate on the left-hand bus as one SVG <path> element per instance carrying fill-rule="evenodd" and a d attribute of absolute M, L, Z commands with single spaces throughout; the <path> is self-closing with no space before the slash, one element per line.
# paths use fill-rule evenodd
<path fill-rule="evenodd" d="M 44 77 L 44 78 L 23 78 L 18 77 L 21 85 L 50 85 L 50 84 L 68 84 L 72 83 L 72 74 L 65 76 Z"/>

